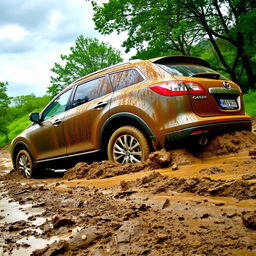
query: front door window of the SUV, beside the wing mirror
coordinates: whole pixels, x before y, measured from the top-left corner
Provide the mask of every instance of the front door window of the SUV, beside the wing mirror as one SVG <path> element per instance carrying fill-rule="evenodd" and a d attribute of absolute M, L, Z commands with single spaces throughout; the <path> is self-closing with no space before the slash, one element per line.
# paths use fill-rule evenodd
<path fill-rule="evenodd" d="M 43 112 L 43 120 L 47 120 L 66 111 L 71 91 L 72 90 L 70 89 L 64 92 L 47 107 L 47 109 Z"/>

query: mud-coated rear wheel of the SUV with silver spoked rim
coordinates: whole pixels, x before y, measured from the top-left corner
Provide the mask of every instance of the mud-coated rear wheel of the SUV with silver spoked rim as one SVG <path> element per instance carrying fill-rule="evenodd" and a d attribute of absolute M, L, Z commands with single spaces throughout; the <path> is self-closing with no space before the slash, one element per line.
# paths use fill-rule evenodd
<path fill-rule="evenodd" d="M 133 126 L 117 129 L 108 142 L 108 159 L 115 163 L 139 163 L 146 161 L 150 153 L 145 135 Z"/>

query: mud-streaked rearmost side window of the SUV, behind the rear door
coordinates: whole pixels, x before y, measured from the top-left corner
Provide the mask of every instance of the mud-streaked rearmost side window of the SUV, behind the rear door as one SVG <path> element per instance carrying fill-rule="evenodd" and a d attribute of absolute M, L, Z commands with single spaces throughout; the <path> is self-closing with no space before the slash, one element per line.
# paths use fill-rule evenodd
<path fill-rule="evenodd" d="M 113 85 L 114 91 L 137 84 L 143 81 L 143 77 L 136 69 L 128 69 L 114 74 L 110 74 L 110 81 Z"/>

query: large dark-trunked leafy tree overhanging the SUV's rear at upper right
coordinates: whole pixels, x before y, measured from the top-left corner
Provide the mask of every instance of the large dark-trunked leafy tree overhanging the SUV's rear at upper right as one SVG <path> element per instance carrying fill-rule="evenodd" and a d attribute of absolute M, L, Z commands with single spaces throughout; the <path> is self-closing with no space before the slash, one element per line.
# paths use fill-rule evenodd
<path fill-rule="evenodd" d="M 249 86 L 255 87 L 255 1 L 110 0 L 103 5 L 92 1 L 92 5 L 99 32 L 128 32 L 123 43 L 127 51 L 141 52 L 146 46 L 153 52 L 190 55 L 195 45 L 207 39 L 223 71 L 238 82 L 237 73 L 245 70 Z M 232 61 L 220 47 L 224 41 L 234 48 Z"/>

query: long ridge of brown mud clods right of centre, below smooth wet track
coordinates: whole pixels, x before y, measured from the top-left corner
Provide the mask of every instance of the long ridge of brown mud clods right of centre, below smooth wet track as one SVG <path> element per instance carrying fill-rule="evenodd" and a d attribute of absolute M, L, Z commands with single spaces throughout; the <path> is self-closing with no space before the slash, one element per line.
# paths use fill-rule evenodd
<path fill-rule="evenodd" d="M 161 175 L 159 172 L 138 179 L 137 181 L 127 182 L 126 188 L 146 188 L 153 194 L 167 191 L 178 193 L 195 193 L 203 196 L 224 196 L 234 197 L 239 200 L 256 198 L 256 183 L 242 180 L 225 181 L 213 180 L 208 177 L 203 178 L 170 178 Z M 122 189 L 124 190 L 124 186 Z"/>

